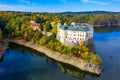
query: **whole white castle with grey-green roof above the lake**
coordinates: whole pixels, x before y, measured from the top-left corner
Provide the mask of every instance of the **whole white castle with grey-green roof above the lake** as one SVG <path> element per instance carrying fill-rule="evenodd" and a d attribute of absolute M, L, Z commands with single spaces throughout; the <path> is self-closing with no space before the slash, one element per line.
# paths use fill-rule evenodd
<path fill-rule="evenodd" d="M 93 27 L 88 24 L 72 23 L 58 24 L 57 39 L 67 46 L 79 46 L 81 41 L 87 44 L 93 38 Z"/>

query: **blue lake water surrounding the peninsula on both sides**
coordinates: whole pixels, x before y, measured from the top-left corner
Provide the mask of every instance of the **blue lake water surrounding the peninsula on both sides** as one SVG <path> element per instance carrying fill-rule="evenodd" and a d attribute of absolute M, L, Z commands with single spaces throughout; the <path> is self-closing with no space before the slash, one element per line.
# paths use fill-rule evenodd
<path fill-rule="evenodd" d="M 104 71 L 99 76 L 10 44 L 0 59 L 0 80 L 120 80 L 120 31 L 96 32 L 94 44 L 103 60 Z"/>

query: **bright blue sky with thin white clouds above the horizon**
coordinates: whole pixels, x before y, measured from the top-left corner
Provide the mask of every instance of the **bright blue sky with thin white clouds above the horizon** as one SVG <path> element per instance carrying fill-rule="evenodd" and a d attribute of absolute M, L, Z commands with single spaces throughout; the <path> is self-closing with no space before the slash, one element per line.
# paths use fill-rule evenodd
<path fill-rule="evenodd" d="M 120 12 L 120 0 L 0 0 L 0 10 L 24 12 Z"/>

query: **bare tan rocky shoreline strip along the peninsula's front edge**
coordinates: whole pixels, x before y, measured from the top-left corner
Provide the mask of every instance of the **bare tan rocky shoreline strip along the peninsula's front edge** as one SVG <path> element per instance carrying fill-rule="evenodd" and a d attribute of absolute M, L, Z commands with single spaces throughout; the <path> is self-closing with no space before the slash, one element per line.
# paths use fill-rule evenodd
<path fill-rule="evenodd" d="M 66 55 L 60 54 L 58 52 L 52 51 L 52 50 L 46 48 L 45 46 L 40 46 L 40 45 L 34 44 L 32 42 L 27 42 L 25 40 L 11 40 L 11 42 L 35 49 L 39 52 L 44 53 L 46 56 L 48 56 L 54 60 L 72 65 L 72 66 L 74 66 L 78 69 L 84 70 L 84 71 L 88 71 L 88 72 L 99 75 L 99 74 L 101 74 L 101 72 L 103 70 L 102 66 L 99 64 L 93 64 L 91 62 L 87 62 L 80 58 L 66 56 Z"/>

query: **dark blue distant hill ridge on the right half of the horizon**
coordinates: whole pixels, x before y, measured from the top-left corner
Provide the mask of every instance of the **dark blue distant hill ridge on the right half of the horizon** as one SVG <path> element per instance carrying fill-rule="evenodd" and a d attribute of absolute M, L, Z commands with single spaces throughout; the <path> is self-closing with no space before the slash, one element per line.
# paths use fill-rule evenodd
<path fill-rule="evenodd" d="M 84 11 L 84 12 L 61 12 L 59 14 L 120 14 L 120 12 L 110 11 Z"/>

